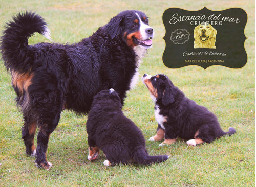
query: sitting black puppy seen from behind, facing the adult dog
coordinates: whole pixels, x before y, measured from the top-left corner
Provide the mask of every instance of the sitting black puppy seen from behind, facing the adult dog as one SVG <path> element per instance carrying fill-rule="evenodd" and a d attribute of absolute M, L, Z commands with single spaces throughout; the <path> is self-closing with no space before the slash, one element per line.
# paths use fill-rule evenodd
<path fill-rule="evenodd" d="M 119 96 L 113 90 L 102 90 L 93 99 L 87 120 L 89 160 L 95 160 L 101 149 L 105 166 L 118 163 L 150 165 L 166 161 L 167 155 L 149 156 L 140 129 L 122 112 Z"/>

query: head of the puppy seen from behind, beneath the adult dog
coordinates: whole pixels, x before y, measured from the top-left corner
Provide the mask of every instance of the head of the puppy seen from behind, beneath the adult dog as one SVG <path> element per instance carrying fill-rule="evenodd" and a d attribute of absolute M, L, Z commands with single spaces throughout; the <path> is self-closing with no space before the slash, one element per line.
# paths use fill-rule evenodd
<path fill-rule="evenodd" d="M 103 107 L 120 106 L 121 100 L 113 88 L 99 91 L 93 98 L 92 106 L 100 104 Z"/>

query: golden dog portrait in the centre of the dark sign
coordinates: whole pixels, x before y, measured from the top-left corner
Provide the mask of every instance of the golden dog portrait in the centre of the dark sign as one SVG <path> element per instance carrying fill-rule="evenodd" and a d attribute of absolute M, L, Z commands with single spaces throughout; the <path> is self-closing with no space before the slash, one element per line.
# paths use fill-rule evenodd
<path fill-rule="evenodd" d="M 200 24 L 194 29 L 194 48 L 216 49 L 216 35 L 216 29 L 210 24 Z"/>

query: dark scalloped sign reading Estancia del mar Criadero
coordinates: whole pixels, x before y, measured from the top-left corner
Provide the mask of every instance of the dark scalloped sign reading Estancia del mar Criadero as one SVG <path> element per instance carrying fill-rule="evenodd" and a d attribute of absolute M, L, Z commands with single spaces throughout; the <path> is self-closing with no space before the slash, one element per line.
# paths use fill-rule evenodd
<path fill-rule="evenodd" d="M 163 62 L 169 68 L 211 65 L 241 68 L 247 62 L 244 29 L 247 14 L 241 8 L 199 11 L 169 8 L 163 13 L 166 43 Z"/>

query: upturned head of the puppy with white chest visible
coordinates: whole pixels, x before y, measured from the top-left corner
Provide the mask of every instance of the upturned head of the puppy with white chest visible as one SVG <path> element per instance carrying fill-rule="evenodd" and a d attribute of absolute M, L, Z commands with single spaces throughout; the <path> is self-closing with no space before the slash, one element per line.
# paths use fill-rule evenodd
<path fill-rule="evenodd" d="M 155 76 L 144 74 L 142 82 L 150 91 L 154 102 L 161 101 L 163 105 L 174 102 L 175 86 L 166 75 L 157 74 Z"/>

